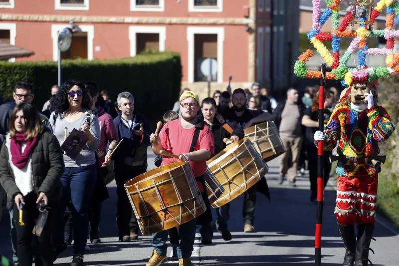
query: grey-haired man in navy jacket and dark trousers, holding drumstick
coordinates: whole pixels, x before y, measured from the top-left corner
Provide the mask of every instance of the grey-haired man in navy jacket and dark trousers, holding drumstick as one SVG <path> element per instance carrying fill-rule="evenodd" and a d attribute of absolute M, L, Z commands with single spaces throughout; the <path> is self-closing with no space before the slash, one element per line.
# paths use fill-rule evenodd
<path fill-rule="evenodd" d="M 144 115 L 134 111 L 134 98 L 130 92 L 118 95 L 121 113 L 114 119 L 119 141 L 123 143 L 113 155 L 116 193 L 118 195 L 116 224 L 119 240 L 138 239 L 138 224 L 130 206 L 124 184 L 147 171 L 147 146 L 150 146 L 150 125 Z"/>

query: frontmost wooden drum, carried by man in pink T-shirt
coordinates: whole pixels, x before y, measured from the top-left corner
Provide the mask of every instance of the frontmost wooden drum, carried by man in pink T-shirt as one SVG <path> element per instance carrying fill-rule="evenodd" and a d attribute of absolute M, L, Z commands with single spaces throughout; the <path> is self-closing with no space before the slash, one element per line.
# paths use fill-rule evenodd
<path fill-rule="evenodd" d="M 143 235 L 182 225 L 206 210 L 189 163 L 150 170 L 128 181 L 125 189 Z"/>

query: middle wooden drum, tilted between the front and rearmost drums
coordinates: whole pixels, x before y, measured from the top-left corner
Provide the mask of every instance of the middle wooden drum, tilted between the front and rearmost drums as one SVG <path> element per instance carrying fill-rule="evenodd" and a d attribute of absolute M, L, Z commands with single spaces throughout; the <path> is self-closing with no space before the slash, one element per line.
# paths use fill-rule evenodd
<path fill-rule="evenodd" d="M 221 207 L 237 198 L 262 179 L 269 170 L 248 138 L 228 145 L 206 164 L 207 174 L 213 175 L 224 188 L 223 194 L 211 204 L 213 208 Z M 208 196 L 210 201 L 212 195 L 208 193 Z"/>

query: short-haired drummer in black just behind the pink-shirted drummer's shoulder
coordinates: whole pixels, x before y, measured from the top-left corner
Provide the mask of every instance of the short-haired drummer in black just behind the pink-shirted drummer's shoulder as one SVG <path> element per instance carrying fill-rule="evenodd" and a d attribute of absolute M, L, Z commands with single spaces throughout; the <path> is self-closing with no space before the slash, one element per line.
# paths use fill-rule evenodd
<path fill-rule="evenodd" d="M 234 132 L 231 134 L 227 132 L 222 126 L 220 120 L 223 120 L 223 117 L 215 117 L 216 114 L 216 102 L 213 98 L 205 98 L 201 103 L 201 111 L 203 121 L 209 125 L 212 130 L 213 139 L 215 143 L 215 154 L 218 154 L 226 147 L 226 143 L 224 143 L 224 138 L 230 138 L 232 141 L 236 142 L 238 139 L 242 139 L 244 137 L 244 131 L 242 128 L 237 127 Z M 231 234 L 227 229 L 227 220 L 228 220 L 228 210 L 230 208 L 230 204 L 227 203 L 220 208 L 216 209 L 216 230 L 220 232 L 224 241 L 231 240 Z M 210 227 L 210 223 L 203 224 L 200 230 L 201 233 L 201 243 L 202 245 L 211 244 L 212 241 L 212 229 Z"/>

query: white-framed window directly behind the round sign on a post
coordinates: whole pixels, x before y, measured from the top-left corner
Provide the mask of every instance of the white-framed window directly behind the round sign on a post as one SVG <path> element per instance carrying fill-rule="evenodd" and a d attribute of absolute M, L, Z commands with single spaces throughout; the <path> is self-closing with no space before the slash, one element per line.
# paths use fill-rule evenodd
<path fill-rule="evenodd" d="M 187 27 L 188 82 L 204 81 L 200 65 L 205 58 L 216 60 L 216 75 L 212 80 L 223 82 L 223 27 Z"/>

